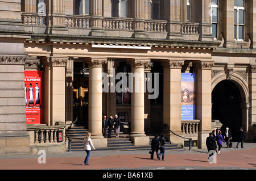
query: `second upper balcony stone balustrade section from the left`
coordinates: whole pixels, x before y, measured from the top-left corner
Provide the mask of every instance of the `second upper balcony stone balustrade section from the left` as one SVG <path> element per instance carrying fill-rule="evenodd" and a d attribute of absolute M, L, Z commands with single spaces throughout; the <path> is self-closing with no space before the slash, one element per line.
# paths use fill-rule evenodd
<path fill-rule="evenodd" d="M 73 28 L 90 28 L 90 16 L 66 15 L 65 26 Z"/>

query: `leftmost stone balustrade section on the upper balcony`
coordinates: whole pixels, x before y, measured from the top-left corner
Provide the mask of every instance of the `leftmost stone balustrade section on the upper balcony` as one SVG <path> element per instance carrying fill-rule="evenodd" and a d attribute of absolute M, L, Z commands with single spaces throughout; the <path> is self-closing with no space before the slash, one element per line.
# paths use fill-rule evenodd
<path fill-rule="evenodd" d="M 22 22 L 30 26 L 46 26 L 46 16 L 22 12 Z"/>

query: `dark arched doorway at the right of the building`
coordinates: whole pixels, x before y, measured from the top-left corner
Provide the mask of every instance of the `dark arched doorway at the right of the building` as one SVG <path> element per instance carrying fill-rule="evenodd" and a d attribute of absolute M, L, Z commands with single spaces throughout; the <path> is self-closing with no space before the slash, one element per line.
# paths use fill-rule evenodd
<path fill-rule="evenodd" d="M 220 120 L 221 132 L 226 127 L 232 133 L 232 141 L 237 141 L 237 131 L 242 126 L 241 94 L 231 81 L 221 81 L 212 91 L 212 119 Z"/>

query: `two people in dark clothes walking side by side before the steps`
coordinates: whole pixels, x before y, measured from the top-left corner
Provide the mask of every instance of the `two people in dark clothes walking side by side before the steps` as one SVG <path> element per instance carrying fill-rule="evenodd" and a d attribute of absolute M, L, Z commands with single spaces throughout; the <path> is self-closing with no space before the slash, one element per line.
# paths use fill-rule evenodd
<path fill-rule="evenodd" d="M 162 161 L 164 161 L 164 152 L 165 152 L 165 144 L 166 138 L 165 135 L 162 133 L 160 138 L 158 138 L 158 134 L 155 134 L 155 138 L 151 141 L 151 151 L 150 151 L 150 159 L 154 159 L 154 153 L 156 153 L 156 157 L 160 160 L 162 155 Z M 160 150 L 160 154 L 159 151 Z"/>

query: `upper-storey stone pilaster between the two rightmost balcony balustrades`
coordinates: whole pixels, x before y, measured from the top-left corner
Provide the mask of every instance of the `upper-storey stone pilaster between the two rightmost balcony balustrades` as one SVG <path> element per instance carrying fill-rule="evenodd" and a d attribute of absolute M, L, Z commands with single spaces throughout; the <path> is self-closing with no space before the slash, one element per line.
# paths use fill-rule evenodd
<path fill-rule="evenodd" d="M 181 35 L 181 0 L 164 0 L 164 19 L 168 20 L 168 39 L 183 39 Z"/>

